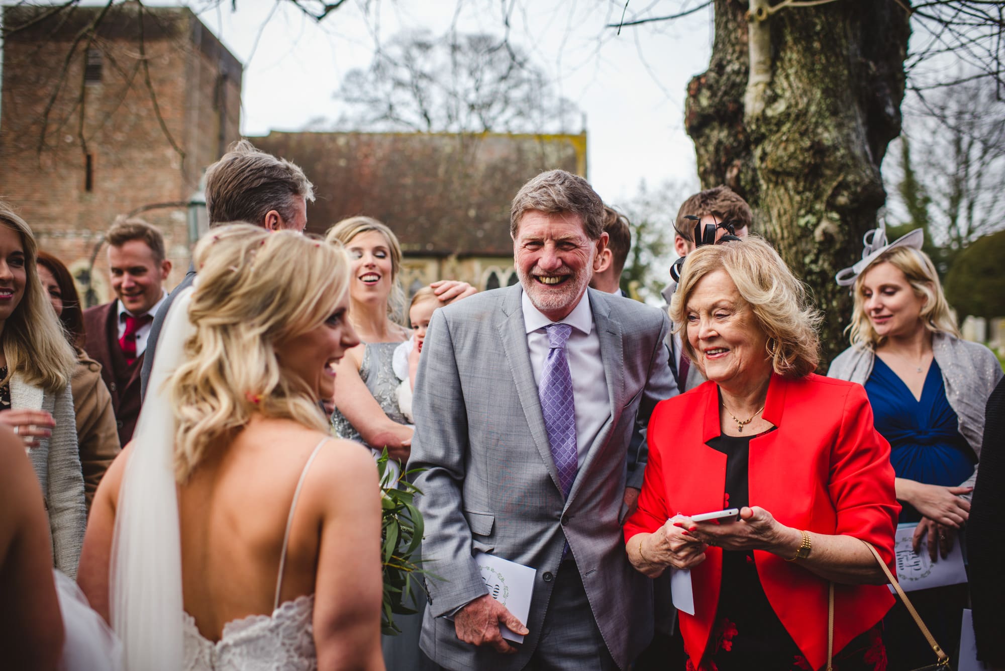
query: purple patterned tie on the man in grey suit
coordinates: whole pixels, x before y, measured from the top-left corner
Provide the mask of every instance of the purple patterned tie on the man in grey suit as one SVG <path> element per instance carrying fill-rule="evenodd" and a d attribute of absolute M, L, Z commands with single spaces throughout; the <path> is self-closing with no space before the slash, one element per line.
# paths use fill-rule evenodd
<path fill-rule="evenodd" d="M 578 467 L 576 404 L 572 395 L 569 360 L 565 354 L 565 344 L 572 333 L 572 326 L 567 323 L 550 323 L 546 328 L 550 349 L 541 371 L 538 396 L 541 399 L 541 412 L 545 416 L 552 459 L 559 471 L 562 493 L 568 496 Z"/>

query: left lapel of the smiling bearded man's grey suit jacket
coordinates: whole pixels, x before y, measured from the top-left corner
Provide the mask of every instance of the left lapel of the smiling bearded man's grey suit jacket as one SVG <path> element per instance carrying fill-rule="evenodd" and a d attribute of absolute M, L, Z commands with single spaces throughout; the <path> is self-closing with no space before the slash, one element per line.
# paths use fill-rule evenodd
<path fill-rule="evenodd" d="M 502 340 L 502 350 L 506 352 L 510 371 L 517 386 L 517 395 L 524 408 L 527 426 L 534 436 L 534 444 L 541 453 L 552 481 L 559 491 L 559 471 L 555 468 L 551 445 L 548 442 L 548 430 L 545 428 L 545 417 L 541 412 L 541 399 L 538 396 L 538 385 L 534 382 L 534 370 L 531 368 L 531 352 L 527 347 L 527 327 L 524 323 L 524 311 L 521 307 L 523 288 L 517 284 L 507 292 L 502 299 L 502 314 L 496 324 Z"/>

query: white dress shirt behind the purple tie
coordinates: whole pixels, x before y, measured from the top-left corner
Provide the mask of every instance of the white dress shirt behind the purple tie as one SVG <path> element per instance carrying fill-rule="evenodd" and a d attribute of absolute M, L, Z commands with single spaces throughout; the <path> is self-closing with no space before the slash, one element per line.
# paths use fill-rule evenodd
<path fill-rule="evenodd" d="M 607 376 L 600 358 L 600 338 L 594 329 L 590 298 L 584 292 L 579 303 L 564 319 L 552 321 L 542 314 L 527 291 L 523 295 L 524 324 L 527 328 L 527 348 L 531 351 L 531 368 L 534 382 L 541 384 L 541 371 L 551 349 L 548 331 L 550 323 L 568 323 L 572 333 L 566 343 L 566 358 L 572 374 L 572 395 L 576 405 L 576 453 L 582 465 L 601 427 L 611 416 L 610 397 L 607 394 Z"/>

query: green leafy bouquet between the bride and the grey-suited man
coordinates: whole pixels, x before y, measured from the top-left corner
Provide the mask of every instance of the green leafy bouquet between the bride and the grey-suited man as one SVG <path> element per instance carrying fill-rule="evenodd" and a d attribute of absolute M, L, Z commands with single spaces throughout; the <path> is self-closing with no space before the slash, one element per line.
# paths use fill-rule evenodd
<path fill-rule="evenodd" d="M 394 616 L 418 613 L 413 606 L 418 599 L 425 598 L 421 577 L 435 576 L 419 566 L 422 560 L 417 556 L 423 524 L 422 513 L 415 507 L 415 497 L 422 492 L 405 476 L 419 471 L 397 475 L 397 469 L 389 463 L 387 448 L 377 460 L 377 470 L 380 474 L 381 563 L 384 568 L 381 633 L 397 636 L 401 629 L 394 623 Z"/>

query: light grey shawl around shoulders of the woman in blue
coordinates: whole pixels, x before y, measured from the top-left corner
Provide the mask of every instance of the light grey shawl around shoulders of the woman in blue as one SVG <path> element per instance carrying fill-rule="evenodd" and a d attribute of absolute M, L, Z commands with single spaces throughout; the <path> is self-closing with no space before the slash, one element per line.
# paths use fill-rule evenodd
<path fill-rule="evenodd" d="M 932 351 L 942 370 L 946 400 L 959 419 L 960 434 L 967 439 L 980 462 L 984 406 L 1002 379 L 1002 367 L 994 353 L 983 345 L 961 340 L 952 333 L 933 333 Z M 831 362 L 827 377 L 864 385 L 872 373 L 874 362 L 875 354 L 871 350 L 852 346 Z M 974 473 L 961 486 L 972 487 L 976 480 L 977 466 L 974 466 Z"/>

